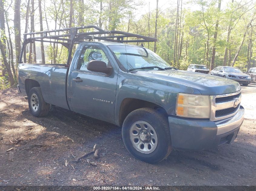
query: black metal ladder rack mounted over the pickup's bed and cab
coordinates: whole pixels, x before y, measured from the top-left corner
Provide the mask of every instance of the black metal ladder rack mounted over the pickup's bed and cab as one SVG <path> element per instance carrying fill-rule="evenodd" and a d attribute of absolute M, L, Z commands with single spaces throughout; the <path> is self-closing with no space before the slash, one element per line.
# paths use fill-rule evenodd
<path fill-rule="evenodd" d="M 82 29 L 95 29 L 96 31 L 94 31 L 94 32 L 79 31 Z M 64 32 L 65 34 L 62 34 L 62 35 L 51 35 L 50 34 L 50 33 L 56 33 L 56 32 Z M 35 35 L 39 35 L 39 34 L 40 34 L 40 36 L 35 37 Z M 104 35 L 104 36 L 102 36 L 102 35 Z M 58 40 L 58 41 L 51 41 L 51 39 Z M 24 42 L 23 42 L 22 50 L 21 50 L 21 55 L 19 58 L 19 63 L 23 63 L 22 55 L 24 52 L 24 48 L 25 48 L 26 44 L 28 44 L 28 43 L 34 43 L 35 41 L 48 42 L 48 43 L 59 43 L 65 47 L 67 47 L 68 50 L 72 50 L 74 44 L 84 42 L 85 40 L 93 41 L 94 39 L 104 40 L 104 41 L 109 41 L 109 42 L 118 42 L 118 43 L 157 42 L 157 39 L 152 38 L 152 37 L 146 37 L 146 36 L 142 36 L 142 35 L 138 35 L 138 34 L 117 31 L 117 30 L 103 30 L 95 25 L 72 27 L 72 28 L 57 29 L 57 30 L 45 30 L 45 31 L 33 32 L 33 33 L 25 33 L 24 34 Z M 71 61 L 70 60 L 71 52 L 72 51 L 69 51 L 69 53 L 68 53 L 67 65 L 69 65 L 69 63 Z"/>

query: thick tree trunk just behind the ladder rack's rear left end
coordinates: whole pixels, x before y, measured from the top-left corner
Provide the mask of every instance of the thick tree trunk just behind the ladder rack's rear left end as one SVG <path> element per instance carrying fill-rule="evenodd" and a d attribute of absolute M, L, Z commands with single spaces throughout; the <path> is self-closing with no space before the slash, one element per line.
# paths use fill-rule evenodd
<path fill-rule="evenodd" d="M 14 2 L 14 34 L 15 34 L 15 53 L 16 53 L 16 64 L 21 52 L 21 29 L 20 29 L 20 0 Z"/>

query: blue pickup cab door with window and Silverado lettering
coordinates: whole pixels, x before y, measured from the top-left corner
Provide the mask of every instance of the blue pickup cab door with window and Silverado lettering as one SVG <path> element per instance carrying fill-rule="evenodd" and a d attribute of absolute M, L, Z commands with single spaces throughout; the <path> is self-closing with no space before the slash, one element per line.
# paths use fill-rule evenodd
<path fill-rule="evenodd" d="M 105 76 L 86 67 L 91 60 L 101 60 L 111 66 L 108 56 L 100 47 L 85 44 L 71 74 L 70 96 L 73 111 L 114 123 L 117 73 L 113 68 L 112 74 Z"/>

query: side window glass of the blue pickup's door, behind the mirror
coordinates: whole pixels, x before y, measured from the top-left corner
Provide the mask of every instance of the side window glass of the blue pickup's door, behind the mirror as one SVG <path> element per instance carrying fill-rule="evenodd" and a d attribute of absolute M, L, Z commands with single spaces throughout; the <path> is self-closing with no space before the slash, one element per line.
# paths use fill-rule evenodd
<path fill-rule="evenodd" d="M 81 56 L 78 61 L 77 70 L 87 70 L 87 63 L 91 60 L 100 60 L 109 65 L 109 60 L 106 54 L 97 46 L 84 46 L 81 52 Z"/>

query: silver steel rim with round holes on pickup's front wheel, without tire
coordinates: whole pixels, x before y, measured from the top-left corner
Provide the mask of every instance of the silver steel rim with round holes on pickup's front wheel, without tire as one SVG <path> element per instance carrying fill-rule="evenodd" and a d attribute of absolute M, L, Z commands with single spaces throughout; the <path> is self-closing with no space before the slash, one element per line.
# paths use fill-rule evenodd
<path fill-rule="evenodd" d="M 136 121 L 129 130 L 132 146 L 143 154 L 155 151 L 158 143 L 155 129 L 145 121 Z"/>

